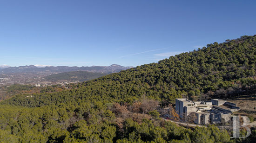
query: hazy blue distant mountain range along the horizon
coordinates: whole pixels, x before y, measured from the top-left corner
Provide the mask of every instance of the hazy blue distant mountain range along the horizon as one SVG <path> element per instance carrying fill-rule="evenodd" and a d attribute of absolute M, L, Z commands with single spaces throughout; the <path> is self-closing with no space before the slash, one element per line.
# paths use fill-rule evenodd
<path fill-rule="evenodd" d="M 0 72 L 4 73 L 24 73 L 24 72 L 70 72 L 70 71 L 89 71 L 97 73 L 115 73 L 121 70 L 126 70 L 133 67 L 123 67 L 117 64 L 112 64 L 111 66 L 91 66 L 91 67 L 67 67 L 67 66 L 49 66 L 49 67 L 36 67 L 34 65 L 30 66 L 20 66 L 20 67 L 9 67 L 7 65 L 0 66 Z"/>

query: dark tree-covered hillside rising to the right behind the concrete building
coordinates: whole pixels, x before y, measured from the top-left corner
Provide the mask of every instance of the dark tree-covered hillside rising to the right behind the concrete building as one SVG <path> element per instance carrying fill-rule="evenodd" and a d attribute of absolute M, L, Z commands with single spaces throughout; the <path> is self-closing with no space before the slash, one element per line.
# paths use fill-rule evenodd
<path fill-rule="evenodd" d="M 163 105 L 181 97 L 193 100 L 226 98 L 255 93 L 255 65 L 256 36 L 243 36 L 76 84 L 74 89 L 64 93 L 37 94 L 30 99 L 17 96 L 3 103 L 42 106 L 48 105 L 46 102 L 56 104 L 60 95 L 67 100 L 96 98 L 120 103 L 132 103 L 146 95 L 162 101 Z M 31 100 L 30 104 L 26 104 L 27 100 Z M 34 105 L 34 100 L 40 100 L 40 104 Z"/>

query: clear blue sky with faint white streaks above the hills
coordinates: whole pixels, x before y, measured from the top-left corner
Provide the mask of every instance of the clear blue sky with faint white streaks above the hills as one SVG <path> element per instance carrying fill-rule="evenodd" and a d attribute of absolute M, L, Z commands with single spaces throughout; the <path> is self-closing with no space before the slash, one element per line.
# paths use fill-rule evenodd
<path fill-rule="evenodd" d="M 255 7 L 255 0 L 0 0 L 0 65 L 158 62 L 255 35 Z"/>

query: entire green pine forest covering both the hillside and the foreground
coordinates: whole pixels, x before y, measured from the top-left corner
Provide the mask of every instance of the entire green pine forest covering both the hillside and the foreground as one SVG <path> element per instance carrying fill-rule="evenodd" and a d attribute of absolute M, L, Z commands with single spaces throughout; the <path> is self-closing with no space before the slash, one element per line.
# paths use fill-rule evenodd
<path fill-rule="evenodd" d="M 59 88 L 59 87 L 52 87 Z M 256 93 L 256 35 L 171 56 L 61 90 L 20 93 L 0 104 L 0 142 L 232 143 L 214 125 L 188 129 L 163 121 L 156 106 L 176 98 Z M 148 106 L 149 105 L 149 106 Z M 149 114 L 138 122 L 133 113 Z"/>

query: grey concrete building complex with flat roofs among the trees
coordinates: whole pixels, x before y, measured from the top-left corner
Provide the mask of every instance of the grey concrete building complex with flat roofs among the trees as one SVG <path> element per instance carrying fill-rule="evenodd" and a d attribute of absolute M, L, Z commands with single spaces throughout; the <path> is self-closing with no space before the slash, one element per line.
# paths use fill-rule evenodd
<path fill-rule="evenodd" d="M 176 112 L 188 116 L 195 112 L 195 124 L 219 124 L 221 121 L 229 121 L 232 112 L 240 110 L 236 104 L 222 99 L 210 101 L 191 101 L 189 99 L 176 99 Z"/>

